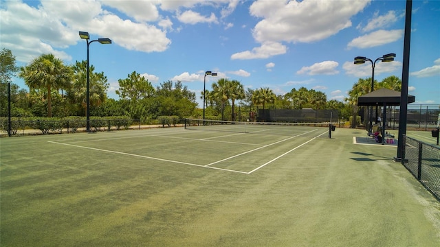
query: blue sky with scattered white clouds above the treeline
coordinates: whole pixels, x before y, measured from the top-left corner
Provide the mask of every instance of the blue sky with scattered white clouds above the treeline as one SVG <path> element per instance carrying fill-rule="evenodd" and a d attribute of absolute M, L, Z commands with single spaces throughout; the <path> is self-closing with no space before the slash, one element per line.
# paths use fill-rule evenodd
<path fill-rule="evenodd" d="M 90 45 L 90 63 L 115 99 L 118 79 L 133 71 L 153 86 L 180 80 L 197 98 L 212 71 L 219 76 L 206 77 L 207 89 L 228 78 L 277 95 L 305 86 L 340 101 L 371 77 L 371 63 L 355 65 L 355 56 L 395 53 L 395 62 L 376 63 L 375 79 L 402 75 L 403 0 L 0 1 L 1 48 L 19 66 L 48 53 L 65 64 L 86 60 L 78 31 L 111 38 Z M 408 91 L 416 104 L 440 104 L 440 1 L 412 1 Z"/>

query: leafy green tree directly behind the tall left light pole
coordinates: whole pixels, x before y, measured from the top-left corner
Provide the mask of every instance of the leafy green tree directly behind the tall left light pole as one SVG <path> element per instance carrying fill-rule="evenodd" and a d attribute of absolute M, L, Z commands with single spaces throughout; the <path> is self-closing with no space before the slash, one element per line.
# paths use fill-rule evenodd
<path fill-rule="evenodd" d="M 67 98 L 69 102 L 76 107 L 77 115 L 85 115 L 87 112 L 87 61 L 81 61 L 72 66 L 74 72 L 72 84 L 67 89 Z M 107 76 L 104 72 L 96 73 L 95 67 L 89 67 L 89 99 L 90 110 L 95 112 L 93 108 L 100 106 L 107 99 Z"/>

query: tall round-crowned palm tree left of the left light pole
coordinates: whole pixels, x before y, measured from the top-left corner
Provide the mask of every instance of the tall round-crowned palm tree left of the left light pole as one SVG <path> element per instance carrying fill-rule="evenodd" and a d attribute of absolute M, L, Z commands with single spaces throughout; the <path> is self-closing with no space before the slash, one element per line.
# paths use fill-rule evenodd
<path fill-rule="evenodd" d="M 23 67 L 19 76 L 30 88 L 47 90 L 47 117 L 52 117 L 52 89 L 67 89 L 72 80 L 72 70 L 54 54 L 43 54 Z"/>

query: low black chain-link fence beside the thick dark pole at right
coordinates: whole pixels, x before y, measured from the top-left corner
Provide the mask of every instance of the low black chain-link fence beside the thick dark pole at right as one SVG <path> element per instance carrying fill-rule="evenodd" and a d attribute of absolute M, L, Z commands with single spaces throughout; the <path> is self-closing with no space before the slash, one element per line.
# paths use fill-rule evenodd
<path fill-rule="evenodd" d="M 404 136 L 402 165 L 440 200 L 440 148 Z"/>

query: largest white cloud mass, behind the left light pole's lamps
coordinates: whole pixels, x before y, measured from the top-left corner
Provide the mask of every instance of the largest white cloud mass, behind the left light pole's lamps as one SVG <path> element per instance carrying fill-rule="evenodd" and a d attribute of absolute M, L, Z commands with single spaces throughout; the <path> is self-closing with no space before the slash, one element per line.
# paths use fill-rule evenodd
<path fill-rule="evenodd" d="M 105 3 L 122 8 L 120 2 Z M 127 7 L 123 11 L 133 9 Z M 60 49 L 85 42 L 80 40 L 78 30 L 89 32 L 91 38 L 111 38 L 114 45 L 136 51 L 164 51 L 171 42 L 166 32 L 154 25 L 121 19 L 103 10 L 99 1 L 43 0 L 37 7 L 20 1 L 2 1 L 0 15 L 1 45 L 11 49 L 21 62 L 30 62 L 48 53 L 71 60 L 72 57 Z"/>

